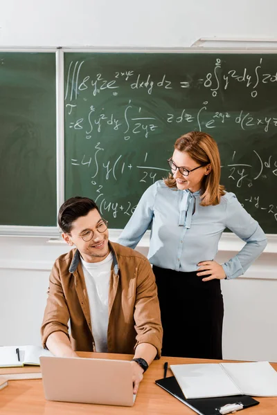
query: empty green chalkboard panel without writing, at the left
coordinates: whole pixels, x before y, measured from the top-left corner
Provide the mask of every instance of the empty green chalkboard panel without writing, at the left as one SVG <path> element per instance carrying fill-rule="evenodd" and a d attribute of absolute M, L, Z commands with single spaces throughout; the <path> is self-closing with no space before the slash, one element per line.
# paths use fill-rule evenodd
<path fill-rule="evenodd" d="M 57 223 L 55 53 L 0 52 L 0 223 Z"/>

